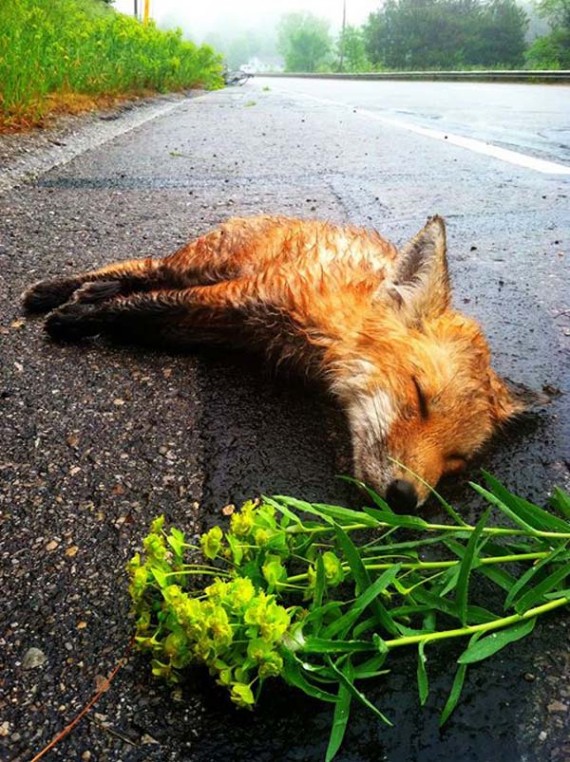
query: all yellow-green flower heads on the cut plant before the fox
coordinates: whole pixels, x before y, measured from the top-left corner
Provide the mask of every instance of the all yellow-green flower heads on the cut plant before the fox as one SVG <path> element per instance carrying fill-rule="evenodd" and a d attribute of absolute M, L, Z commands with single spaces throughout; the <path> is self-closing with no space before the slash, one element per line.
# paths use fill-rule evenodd
<path fill-rule="evenodd" d="M 155 675 L 177 681 L 184 667 L 202 663 L 238 706 L 254 704 L 263 680 L 283 674 L 284 642 L 291 640 L 293 617 L 303 616 L 277 596 L 310 597 L 317 568 L 321 594 L 344 577 L 339 558 L 297 530 L 272 505 L 249 501 L 232 514 L 227 531 L 214 526 L 200 537 L 205 564 L 189 564 L 182 532 L 167 533 L 164 517 L 155 519 L 143 541 L 144 560 L 136 554 L 129 564 L 136 644 L 152 654 Z M 304 586 L 288 581 L 291 563 Z M 201 574 L 215 581 L 189 590 L 192 575 Z"/>

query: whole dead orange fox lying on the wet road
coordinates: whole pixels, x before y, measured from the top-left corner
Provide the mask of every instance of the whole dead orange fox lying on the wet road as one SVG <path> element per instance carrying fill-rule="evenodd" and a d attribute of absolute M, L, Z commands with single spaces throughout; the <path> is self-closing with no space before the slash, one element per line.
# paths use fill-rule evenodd
<path fill-rule="evenodd" d="M 374 230 L 230 219 L 163 259 L 40 281 L 23 299 L 51 310 L 58 340 L 226 344 L 295 364 L 338 400 L 356 477 L 396 510 L 423 503 L 528 402 L 451 308 L 441 217 L 399 251 Z"/>

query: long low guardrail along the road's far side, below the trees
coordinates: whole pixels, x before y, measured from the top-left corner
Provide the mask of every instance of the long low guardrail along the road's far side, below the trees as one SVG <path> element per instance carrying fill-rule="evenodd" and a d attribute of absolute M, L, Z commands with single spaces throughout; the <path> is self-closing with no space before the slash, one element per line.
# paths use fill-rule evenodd
<path fill-rule="evenodd" d="M 522 82 L 528 84 L 568 84 L 570 70 L 559 71 L 541 69 L 497 70 L 497 71 L 378 71 L 349 74 L 344 72 L 285 73 L 267 72 L 254 74 L 255 77 L 302 78 L 302 79 L 355 79 L 355 80 L 408 80 L 426 82 Z"/>

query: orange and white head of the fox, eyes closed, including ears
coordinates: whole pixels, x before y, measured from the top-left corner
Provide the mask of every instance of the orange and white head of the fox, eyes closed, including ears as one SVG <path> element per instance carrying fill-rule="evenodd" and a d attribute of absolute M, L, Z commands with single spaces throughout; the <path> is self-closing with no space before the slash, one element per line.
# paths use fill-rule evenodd
<path fill-rule="evenodd" d="M 357 478 L 413 510 L 531 401 L 493 371 L 479 325 L 450 307 L 445 226 L 434 217 L 374 293 L 344 407 Z"/>

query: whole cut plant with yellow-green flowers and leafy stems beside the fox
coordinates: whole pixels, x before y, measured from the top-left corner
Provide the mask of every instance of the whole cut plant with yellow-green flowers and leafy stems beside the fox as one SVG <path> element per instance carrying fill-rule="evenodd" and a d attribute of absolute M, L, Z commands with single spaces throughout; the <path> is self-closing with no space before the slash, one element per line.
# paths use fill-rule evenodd
<path fill-rule="evenodd" d="M 205 664 L 238 707 L 252 709 L 276 678 L 332 703 L 332 760 L 354 701 L 390 724 L 360 686 L 385 674 L 393 649 L 416 651 L 423 705 L 428 646 L 466 638 L 443 723 L 472 664 L 570 602 L 570 496 L 555 492 L 555 515 L 485 479 L 486 488 L 473 485 L 489 505 L 476 526 L 453 514 L 449 524 L 400 516 L 370 491 L 375 507 L 364 511 L 250 501 L 199 547 L 160 517 L 129 564 L 136 647 L 170 682 Z M 508 526 L 489 526 L 492 508 Z M 478 577 L 483 605 L 474 599 Z"/>

